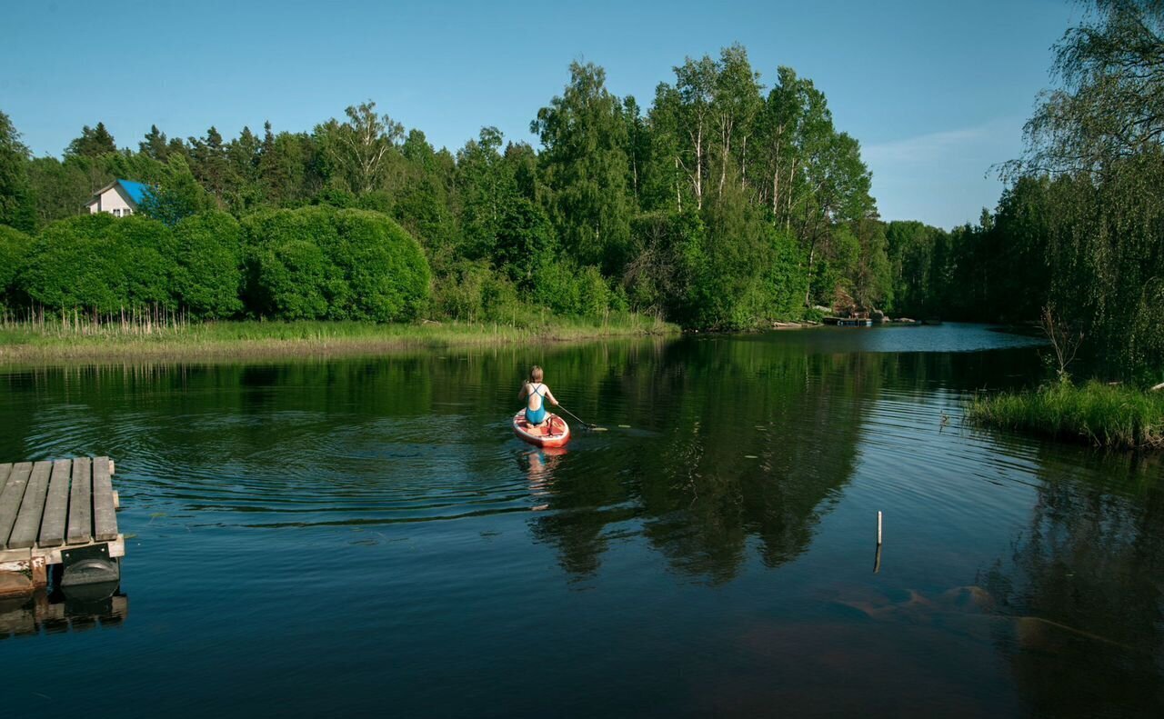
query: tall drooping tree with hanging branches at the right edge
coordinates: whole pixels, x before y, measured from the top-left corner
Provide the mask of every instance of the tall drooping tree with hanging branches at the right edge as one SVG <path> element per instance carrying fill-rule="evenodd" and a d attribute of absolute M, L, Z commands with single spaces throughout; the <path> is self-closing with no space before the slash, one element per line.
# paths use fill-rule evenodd
<path fill-rule="evenodd" d="M 1048 301 L 1081 329 L 1112 373 L 1164 364 L 1164 3 L 1094 0 L 1056 45 L 1056 84 L 1025 126 L 1023 155 L 1003 166 L 1015 185 L 988 230 L 1030 259 L 1042 251 Z M 1021 180 L 1020 180 L 1021 181 Z M 1035 206 L 1027 199 L 1042 194 Z M 989 240 L 989 237 L 987 237 Z M 1045 247 L 1045 250 L 1042 248 Z M 1001 297 L 1028 269 L 978 265 Z"/>

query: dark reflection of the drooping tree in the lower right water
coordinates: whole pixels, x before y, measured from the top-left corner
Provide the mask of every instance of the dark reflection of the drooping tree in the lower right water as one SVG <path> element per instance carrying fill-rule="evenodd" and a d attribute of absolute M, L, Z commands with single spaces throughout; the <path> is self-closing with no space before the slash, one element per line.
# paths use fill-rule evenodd
<path fill-rule="evenodd" d="M 1029 526 L 986 572 L 1024 619 L 999 652 L 1036 713 L 1094 716 L 1113 695 L 1124 716 L 1164 706 L 1161 469 L 1157 456 L 1044 451 Z"/>

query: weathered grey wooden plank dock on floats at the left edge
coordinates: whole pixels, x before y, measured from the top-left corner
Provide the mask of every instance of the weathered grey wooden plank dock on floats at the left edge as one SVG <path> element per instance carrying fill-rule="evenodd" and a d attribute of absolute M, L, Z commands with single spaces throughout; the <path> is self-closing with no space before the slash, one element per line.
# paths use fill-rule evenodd
<path fill-rule="evenodd" d="M 0 464 L 0 597 L 115 582 L 126 554 L 108 457 Z"/>

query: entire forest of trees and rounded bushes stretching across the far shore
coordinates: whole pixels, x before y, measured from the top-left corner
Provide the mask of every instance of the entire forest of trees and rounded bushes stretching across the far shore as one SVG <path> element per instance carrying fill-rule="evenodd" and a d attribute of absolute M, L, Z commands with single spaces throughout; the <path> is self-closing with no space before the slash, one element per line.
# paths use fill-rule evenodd
<path fill-rule="evenodd" d="M 700 329 L 812 319 L 838 297 L 947 320 L 1050 309 L 1096 373 L 1150 378 L 1164 366 L 1161 57 L 1161 2 L 1093 0 L 1055 48 L 1024 155 L 995 168 L 998 206 L 949 230 L 882 221 L 824 93 L 790 67 L 765 78 L 738 44 L 686 58 L 650 107 L 573 63 L 531 121 L 537 148 L 483 127 L 438 150 L 367 101 L 310 131 L 155 126 L 136 149 L 98 122 L 61 158 L 33 157 L 0 113 L 0 292 L 17 315 L 631 311 Z M 141 216 L 78 216 L 114 178 L 154 187 Z"/>

